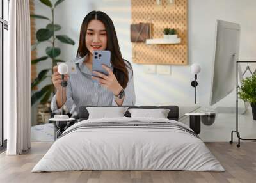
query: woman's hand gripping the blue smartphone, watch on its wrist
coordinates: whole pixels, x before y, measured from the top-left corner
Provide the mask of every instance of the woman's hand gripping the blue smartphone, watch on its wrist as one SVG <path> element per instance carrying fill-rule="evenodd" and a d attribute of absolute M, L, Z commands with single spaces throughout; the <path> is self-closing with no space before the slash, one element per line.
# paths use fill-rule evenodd
<path fill-rule="evenodd" d="M 106 65 L 102 65 L 102 67 L 108 72 L 108 76 L 100 72 L 93 71 L 93 74 L 96 74 L 99 77 L 92 76 L 92 79 L 99 81 L 102 86 L 108 88 L 108 90 L 113 92 L 114 95 L 118 95 L 123 89 L 122 86 L 118 83 L 115 74 L 113 74 L 109 67 Z"/>

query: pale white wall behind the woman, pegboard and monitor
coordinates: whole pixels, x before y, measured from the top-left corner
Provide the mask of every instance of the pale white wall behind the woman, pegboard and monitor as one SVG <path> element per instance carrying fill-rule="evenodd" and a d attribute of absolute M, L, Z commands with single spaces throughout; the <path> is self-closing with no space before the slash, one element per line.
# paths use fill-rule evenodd
<path fill-rule="evenodd" d="M 75 3 L 76 2 L 76 3 Z M 35 13 L 49 14 L 44 5 L 36 2 Z M 194 88 L 190 86 L 193 75 L 190 65 L 199 63 L 202 67 L 198 75 L 198 105 L 208 106 L 211 86 L 212 54 L 216 19 L 237 22 L 241 25 L 240 60 L 256 59 L 256 1 L 240 0 L 189 0 L 188 1 L 188 42 L 189 65 L 172 66 L 170 75 L 145 74 L 143 65 L 132 64 L 136 105 L 177 104 L 194 106 Z M 129 0 L 64 1 L 56 8 L 56 24 L 63 29 L 60 34 L 70 36 L 74 47 L 61 44 L 63 60 L 76 56 L 79 29 L 84 16 L 91 10 L 102 10 L 113 20 L 118 35 L 120 49 L 125 59 L 132 61 L 132 44 L 129 25 L 131 23 L 131 2 Z M 36 28 L 44 26 L 36 20 Z M 57 46 L 59 44 L 57 43 Z M 42 50 L 38 50 L 38 56 Z M 44 68 L 42 63 L 39 70 Z M 166 66 L 168 67 L 168 66 Z M 50 81 L 49 81 L 50 82 Z M 224 81 L 223 81 L 224 82 Z M 218 106 L 235 106 L 234 93 L 223 99 Z"/>

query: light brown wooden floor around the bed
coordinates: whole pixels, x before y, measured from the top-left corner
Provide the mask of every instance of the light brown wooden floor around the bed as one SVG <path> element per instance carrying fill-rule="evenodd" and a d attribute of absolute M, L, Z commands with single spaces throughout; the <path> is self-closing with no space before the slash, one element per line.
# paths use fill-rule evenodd
<path fill-rule="evenodd" d="M 225 172 L 196 171 L 65 171 L 31 173 L 31 169 L 51 147 L 32 143 L 28 152 L 17 156 L 0 154 L 0 182 L 256 182 L 256 142 L 241 147 L 229 143 L 206 143 L 224 166 Z"/>

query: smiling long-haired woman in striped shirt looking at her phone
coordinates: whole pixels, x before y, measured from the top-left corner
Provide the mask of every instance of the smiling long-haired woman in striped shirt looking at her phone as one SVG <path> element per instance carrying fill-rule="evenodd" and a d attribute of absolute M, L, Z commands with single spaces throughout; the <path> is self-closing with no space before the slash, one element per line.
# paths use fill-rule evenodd
<path fill-rule="evenodd" d="M 111 68 L 108 76 L 93 72 L 92 56 L 95 50 L 111 51 Z M 77 74 L 66 75 L 68 85 L 64 88 L 64 105 L 68 112 L 79 110 L 80 106 L 122 106 L 134 105 L 135 93 L 131 64 L 122 58 L 116 31 L 112 20 L 104 12 L 92 11 L 84 17 L 80 30 L 76 63 Z M 93 82 L 92 79 L 99 81 Z M 52 97 L 52 112 L 59 112 L 62 104 L 61 75 L 54 67 L 52 83 L 57 92 Z"/>

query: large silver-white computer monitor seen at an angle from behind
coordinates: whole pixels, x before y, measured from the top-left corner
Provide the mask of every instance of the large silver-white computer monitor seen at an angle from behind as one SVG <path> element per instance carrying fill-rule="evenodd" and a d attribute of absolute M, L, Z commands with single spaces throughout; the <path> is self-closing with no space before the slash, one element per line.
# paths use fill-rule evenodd
<path fill-rule="evenodd" d="M 211 106 L 236 88 L 236 60 L 239 59 L 239 44 L 240 25 L 216 20 L 210 97 Z M 239 67 L 239 69 L 241 68 Z"/>

